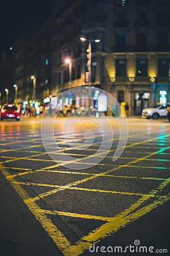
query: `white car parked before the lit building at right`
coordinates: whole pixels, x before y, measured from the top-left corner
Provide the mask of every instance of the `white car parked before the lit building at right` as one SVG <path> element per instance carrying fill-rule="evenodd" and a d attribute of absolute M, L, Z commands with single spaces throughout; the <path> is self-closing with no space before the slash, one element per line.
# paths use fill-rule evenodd
<path fill-rule="evenodd" d="M 166 103 L 166 104 L 158 103 L 152 106 L 152 108 L 143 109 L 142 118 L 152 117 L 153 119 L 158 119 L 159 117 L 167 117 L 167 113 L 168 113 L 167 106 L 169 104 L 170 103 Z"/>

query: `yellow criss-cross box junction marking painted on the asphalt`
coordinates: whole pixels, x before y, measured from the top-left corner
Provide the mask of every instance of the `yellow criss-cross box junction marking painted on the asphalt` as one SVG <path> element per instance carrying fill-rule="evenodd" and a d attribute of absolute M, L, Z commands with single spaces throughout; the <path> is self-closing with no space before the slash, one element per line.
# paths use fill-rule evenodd
<path fill-rule="evenodd" d="M 169 135 L 166 135 L 165 137 L 168 137 Z M 133 143 L 131 145 L 128 145 L 127 147 L 133 147 L 137 146 L 141 143 L 146 143 L 149 141 L 155 141 L 158 138 L 154 139 L 148 139 L 143 142 Z M 58 186 L 58 185 L 52 185 L 52 184 L 39 184 L 39 183 L 22 183 L 18 182 L 14 179 L 14 177 L 19 175 L 26 175 L 33 173 L 35 171 L 27 170 L 27 172 L 20 173 L 18 175 L 11 175 L 4 167 L 1 167 L 3 175 L 10 181 L 12 187 L 15 188 L 16 192 L 18 192 L 19 196 L 22 198 L 24 203 L 27 205 L 29 210 L 34 214 L 36 219 L 40 222 L 40 224 L 43 226 L 43 228 L 46 230 L 46 232 L 49 234 L 49 236 L 52 238 L 54 243 L 58 246 L 59 250 L 62 251 L 63 255 L 65 256 L 78 256 L 83 253 L 84 250 L 87 250 L 90 246 L 92 246 L 93 243 L 97 243 L 104 239 L 105 237 L 111 236 L 111 234 L 117 232 L 118 229 L 123 228 L 130 222 L 133 222 L 137 220 L 139 217 L 143 216 L 144 214 L 150 212 L 151 210 L 155 209 L 159 205 L 164 204 L 166 201 L 170 199 L 170 193 L 168 195 L 162 195 L 160 196 L 159 193 L 163 191 L 163 189 L 170 183 L 170 179 L 163 179 L 163 178 L 152 178 L 152 177 L 128 177 L 128 176 L 120 176 L 124 178 L 129 179 L 155 179 L 155 180 L 163 180 L 162 183 L 159 184 L 157 188 L 154 188 L 148 193 L 148 195 L 141 194 L 141 193 L 128 193 L 128 192 L 117 192 L 117 191 L 104 191 L 100 189 L 87 189 L 87 188 L 78 188 L 75 187 L 77 184 L 81 184 L 84 182 L 87 182 L 91 179 L 95 179 L 99 176 L 116 176 L 116 175 L 109 175 L 111 172 L 116 171 L 122 167 L 134 167 L 130 166 L 131 164 L 138 163 L 142 160 L 148 160 L 150 156 L 155 154 L 160 154 L 161 152 L 169 149 L 170 147 L 164 147 L 160 148 L 156 152 L 152 152 L 148 154 L 147 156 L 144 156 L 142 158 L 133 159 L 131 162 L 125 165 L 120 165 L 112 170 L 109 170 L 107 172 L 102 172 L 100 174 L 88 174 L 90 177 L 86 177 L 85 179 L 75 181 L 73 183 L 64 185 L 64 186 Z M 90 156 L 91 157 L 91 156 Z M 30 156 L 29 156 L 30 158 Z M 28 158 L 23 158 L 28 159 Z M 80 159 L 78 159 L 80 160 Z M 46 168 L 42 168 L 41 170 L 36 171 L 47 171 L 49 168 L 58 167 L 58 164 Z M 139 166 L 138 166 L 139 167 Z M 146 168 L 146 167 L 143 167 Z M 155 167 L 156 168 L 156 167 Z M 59 172 L 59 171 L 58 171 Z M 65 173 L 65 171 L 63 171 Z M 71 172 L 69 172 L 71 173 Z M 75 172 L 77 174 L 77 172 Z M 80 173 L 79 173 L 80 174 Z M 87 175 L 86 173 L 83 173 L 84 175 Z M 40 185 L 40 186 L 46 186 L 46 187 L 53 187 L 55 189 L 52 189 L 46 193 L 42 193 L 37 197 L 29 197 L 28 193 L 24 190 L 22 185 Z M 35 203 L 37 200 L 40 200 L 41 198 L 44 198 L 46 196 L 53 195 L 54 193 L 58 191 L 63 191 L 65 189 L 78 189 L 80 191 L 89 191 L 89 192 L 100 192 L 100 193 L 121 193 L 122 195 L 138 195 L 141 196 L 139 200 L 137 200 L 134 204 L 130 205 L 129 208 L 123 210 L 121 213 L 116 214 L 116 216 L 113 217 L 104 217 L 104 216 L 92 216 L 88 214 L 78 214 L 78 213 L 70 213 L 70 212 L 61 212 L 61 211 L 50 211 L 45 209 L 40 209 L 40 207 Z M 148 204 L 145 205 L 145 207 L 141 207 L 141 205 L 146 202 L 149 199 L 153 199 L 155 197 L 155 201 L 148 201 Z M 101 225 L 99 228 L 96 228 L 95 230 L 92 230 L 89 234 L 86 236 L 83 236 L 79 241 L 75 243 L 75 245 L 71 245 L 70 241 L 67 240 L 67 238 L 62 234 L 60 230 L 53 224 L 53 222 L 50 220 L 50 218 L 47 216 L 49 214 L 56 214 L 61 216 L 70 216 L 70 217 L 76 217 L 76 218 L 86 218 L 86 219 L 94 219 L 94 220 L 101 220 L 106 221 L 103 225 Z"/>

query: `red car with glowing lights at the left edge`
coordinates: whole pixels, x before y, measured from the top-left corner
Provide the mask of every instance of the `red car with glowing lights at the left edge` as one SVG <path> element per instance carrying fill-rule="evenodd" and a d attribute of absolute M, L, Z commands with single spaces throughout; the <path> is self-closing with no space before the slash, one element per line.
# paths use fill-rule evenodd
<path fill-rule="evenodd" d="M 15 104 L 5 104 L 1 109 L 1 121 L 3 118 L 15 118 L 16 121 L 20 120 L 20 109 Z"/>

